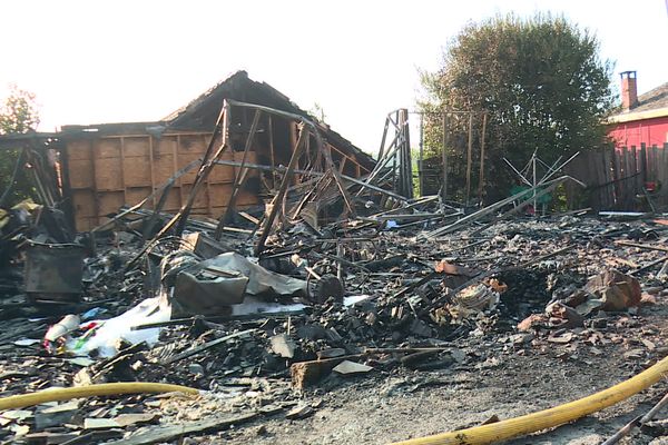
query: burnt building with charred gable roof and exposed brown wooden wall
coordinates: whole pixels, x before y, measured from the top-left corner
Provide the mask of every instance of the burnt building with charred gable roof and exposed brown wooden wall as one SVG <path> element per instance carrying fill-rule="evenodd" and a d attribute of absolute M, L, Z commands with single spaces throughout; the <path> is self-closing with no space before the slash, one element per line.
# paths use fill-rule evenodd
<path fill-rule="evenodd" d="M 214 162 L 216 168 L 204 179 L 199 179 L 197 168 L 179 174 L 222 146 L 222 132 L 213 129 L 218 128 L 216 122 L 225 100 L 235 109 L 226 125 L 228 148 Z M 235 101 L 291 117 L 232 105 Z M 279 185 L 282 174 L 275 169 L 291 160 L 298 136 L 297 117 L 312 121 L 287 97 L 239 71 L 160 121 L 63 127 L 58 135 L 69 177 L 65 188 L 77 229 L 89 230 L 109 220 L 109 215 L 120 207 L 140 202 L 144 208 L 159 207 L 166 212 L 176 212 L 187 205 L 194 217 L 224 216 L 226 220 L 233 209 L 262 205 L 273 198 Z M 374 168 L 373 158 L 341 135 L 323 123 L 313 126 L 341 175 L 358 178 Z M 311 170 L 315 144 L 312 135 L 297 159 L 297 170 Z M 248 169 L 246 164 L 271 171 Z M 297 184 L 302 176 L 297 174 L 293 181 Z M 166 192 L 157 192 L 168 181 Z M 194 188 L 199 192 L 188 202 Z M 144 201 L 147 196 L 150 199 Z"/>

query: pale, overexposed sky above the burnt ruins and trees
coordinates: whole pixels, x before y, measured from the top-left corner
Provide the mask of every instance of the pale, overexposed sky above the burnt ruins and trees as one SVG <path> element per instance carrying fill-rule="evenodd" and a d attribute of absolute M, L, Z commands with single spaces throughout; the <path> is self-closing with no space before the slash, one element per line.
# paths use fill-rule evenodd
<path fill-rule="evenodd" d="M 668 81 L 668 0 L 31 1 L 0 3 L 0 97 L 37 93 L 40 130 L 157 120 L 245 69 L 375 151 L 385 115 L 414 108 L 463 24 L 495 13 L 562 13 L 595 31 L 645 92 Z"/>

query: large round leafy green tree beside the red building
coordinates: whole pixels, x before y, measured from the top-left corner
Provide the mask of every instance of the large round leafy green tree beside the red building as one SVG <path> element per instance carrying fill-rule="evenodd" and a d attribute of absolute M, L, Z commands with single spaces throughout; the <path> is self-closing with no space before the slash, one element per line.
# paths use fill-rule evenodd
<path fill-rule="evenodd" d="M 441 68 L 422 73 L 425 97 L 419 106 L 433 112 L 425 116 L 426 149 L 441 150 L 442 110 L 487 111 L 485 189 L 497 198 L 514 179 L 503 157 L 524 165 L 538 150 L 551 162 L 607 141 L 602 120 L 615 100 L 611 71 L 596 36 L 564 18 L 508 16 L 470 23 L 445 47 Z M 456 167 L 465 152 L 468 117 L 453 116 L 449 127 L 448 150 Z M 479 119 L 475 128 L 478 141 Z"/>

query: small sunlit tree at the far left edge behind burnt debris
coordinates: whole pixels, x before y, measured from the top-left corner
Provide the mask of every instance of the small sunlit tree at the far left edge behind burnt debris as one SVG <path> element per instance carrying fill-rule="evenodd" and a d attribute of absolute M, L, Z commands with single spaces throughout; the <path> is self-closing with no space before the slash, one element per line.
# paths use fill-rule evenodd
<path fill-rule="evenodd" d="M 0 106 L 0 135 L 27 134 L 35 131 L 38 125 L 39 111 L 35 95 L 12 85 L 10 95 Z M 0 148 L 0 197 L 4 196 L 6 190 L 12 186 L 14 167 L 21 151 L 20 147 L 16 149 Z M 7 196 L 4 206 L 16 204 L 30 196 L 31 186 L 22 170 L 19 166 L 13 188 Z"/>

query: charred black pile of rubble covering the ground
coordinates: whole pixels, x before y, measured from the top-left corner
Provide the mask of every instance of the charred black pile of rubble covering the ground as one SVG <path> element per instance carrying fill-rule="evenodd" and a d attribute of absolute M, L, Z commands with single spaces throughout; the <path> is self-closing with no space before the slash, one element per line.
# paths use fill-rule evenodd
<path fill-rule="evenodd" d="M 637 326 L 638 312 L 668 294 L 661 220 L 490 222 L 489 211 L 471 218 L 438 206 L 422 198 L 401 207 L 405 215 L 367 212 L 317 229 L 284 221 L 259 257 L 250 222 L 259 214 L 219 239 L 215 221 L 195 219 L 180 237 L 146 239 L 150 214 L 121 211 L 63 238 L 41 206 L 3 212 L 3 397 L 114 382 L 202 393 L 6 411 L 1 439 L 149 444 L 262 416 L 303 418 L 318 409 L 315 389 L 351 376 L 490 365 L 471 347 L 481 339 L 602 354 L 623 342 L 607 326 Z M 665 349 L 645 339 L 627 354 L 647 365 Z"/>

